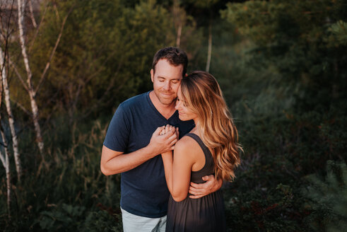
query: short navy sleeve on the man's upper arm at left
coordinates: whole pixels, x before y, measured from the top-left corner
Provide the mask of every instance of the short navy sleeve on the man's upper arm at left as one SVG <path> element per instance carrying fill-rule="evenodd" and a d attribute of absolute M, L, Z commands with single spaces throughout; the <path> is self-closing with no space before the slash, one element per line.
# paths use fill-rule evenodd
<path fill-rule="evenodd" d="M 113 151 L 127 151 L 129 144 L 129 115 L 121 104 L 112 117 L 107 129 L 104 145 Z"/>

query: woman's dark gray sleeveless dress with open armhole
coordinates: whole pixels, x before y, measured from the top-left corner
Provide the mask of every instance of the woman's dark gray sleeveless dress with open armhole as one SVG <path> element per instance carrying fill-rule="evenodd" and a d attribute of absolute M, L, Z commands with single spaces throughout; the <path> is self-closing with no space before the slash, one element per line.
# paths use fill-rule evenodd
<path fill-rule="evenodd" d="M 205 166 L 192 171 L 191 181 L 202 183 L 205 175 L 214 174 L 214 161 L 211 152 L 196 134 L 186 134 L 201 146 L 205 154 Z M 190 195 L 190 194 L 189 194 Z M 226 231 L 223 195 L 220 190 L 205 197 L 192 199 L 189 196 L 182 202 L 175 202 L 170 195 L 166 231 Z"/>

